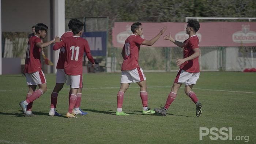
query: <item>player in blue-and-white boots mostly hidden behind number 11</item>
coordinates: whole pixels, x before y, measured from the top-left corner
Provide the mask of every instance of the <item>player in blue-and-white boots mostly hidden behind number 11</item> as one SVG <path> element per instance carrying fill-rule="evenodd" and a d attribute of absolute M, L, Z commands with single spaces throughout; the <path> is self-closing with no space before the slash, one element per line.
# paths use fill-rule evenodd
<path fill-rule="evenodd" d="M 66 38 L 66 37 L 72 37 L 74 34 L 72 33 L 72 26 L 76 23 L 78 23 L 79 20 L 78 19 L 71 19 L 68 22 L 68 28 L 69 31 L 67 31 L 66 33 L 64 33 L 61 36 L 61 40 Z M 50 111 L 49 111 L 49 115 L 50 116 L 61 116 L 59 113 L 56 112 L 56 105 L 57 105 L 57 97 L 59 94 L 59 91 L 63 88 L 64 83 L 66 83 L 67 81 L 67 77 L 65 75 L 64 72 L 64 62 L 65 62 L 65 48 L 62 47 L 60 49 L 60 54 L 59 54 L 59 60 L 57 63 L 57 73 L 56 73 L 56 84 L 55 87 L 53 89 L 53 92 L 51 94 L 51 104 L 50 104 Z M 75 108 L 74 108 L 74 114 L 79 114 L 79 115 L 87 115 L 87 112 L 82 111 L 79 106 L 81 103 L 81 95 L 82 95 L 82 88 L 78 88 L 78 94 L 77 94 L 77 101 L 75 104 Z M 71 96 L 71 89 L 69 91 L 69 98 Z"/>

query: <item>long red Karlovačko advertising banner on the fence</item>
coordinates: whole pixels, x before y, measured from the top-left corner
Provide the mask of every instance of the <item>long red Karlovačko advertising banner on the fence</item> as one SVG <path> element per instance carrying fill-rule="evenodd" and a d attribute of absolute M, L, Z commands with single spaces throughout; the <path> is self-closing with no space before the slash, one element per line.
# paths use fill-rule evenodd
<path fill-rule="evenodd" d="M 115 22 L 112 28 L 112 43 L 114 47 L 123 47 L 125 39 L 132 34 L 133 22 Z M 185 28 L 187 23 L 178 22 L 142 22 L 144 39 L 155 37 L 162 27 L 167 26 L 165 34 L 171 33 L 177 41 L 188 38 Z M 163 34 L 163 35 L 165 35 Z M 196 35 L 199 46 L 256 46 L 256 22 L 201 22 Z M 153 46 L 176 46 L 172 42 L 158 39 Z"/>

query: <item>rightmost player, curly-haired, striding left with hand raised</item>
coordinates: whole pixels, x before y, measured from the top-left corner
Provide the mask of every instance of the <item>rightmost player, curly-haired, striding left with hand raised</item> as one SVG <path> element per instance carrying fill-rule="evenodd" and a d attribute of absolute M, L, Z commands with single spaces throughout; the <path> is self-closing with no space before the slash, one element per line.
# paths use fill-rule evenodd
<path fill-rule="evenodd" d="M 155 108 L 154 110 L 165 116 L 166 111 L 176 98 L 177 92 L 182 84 L 185 84 L 185 93 L 191 98 L 196 104 L 196 116 L 199 117 L 202 114 L 202 104 L 198 101 L 195 92 L 192 91 L 193 85 L 199 79 L 200 69 L 198 57 L 200 56 L 199 51 L 199 39 L 196 36 L 196 32 L 199 30 L 200 24 L 197 20 L 189 20 L 186 28 L 186 33 L 189 38 L 184 42 L 176 41 L 172 38 L 171 33 L 163 36 L 163 39 L 173 42 L 175 45 L 184 48 L 183 58 L 177 59 L 176 64 L 180 66 L 180 70 L 174 80 L 171 92 L 167 97 L 164 107 Z"/>

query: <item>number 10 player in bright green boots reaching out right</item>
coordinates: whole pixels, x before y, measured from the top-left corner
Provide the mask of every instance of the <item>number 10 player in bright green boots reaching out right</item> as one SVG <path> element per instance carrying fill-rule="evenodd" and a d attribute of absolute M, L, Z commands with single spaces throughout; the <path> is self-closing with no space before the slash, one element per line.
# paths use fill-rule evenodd
<path fill-rule="evenodd" d="M 151 46 L 160 38 L 160 36 L 166 31 L 166 27 L 163 27 L 161 31 L 150 41 L 141 38 L 143 34 L 142 24 L 139 22 L 133 23 L 131 26 L 132 35 L 126 40 L 122 50 L 123 64 L 121 68 L 121 86 L 117 94 L 117 111 L 116 115 L 129 115 L 122 110 L 124 93 L 128 89 L 130 83 L 137 83 L 140 86 L 140 98 L 142 99 L 143 114 L 154 114 L 154 110 L 148 108 L 148 94 L 146 77 L 142 68 L 139 66 L 139 51 L 140 45 Z"/>

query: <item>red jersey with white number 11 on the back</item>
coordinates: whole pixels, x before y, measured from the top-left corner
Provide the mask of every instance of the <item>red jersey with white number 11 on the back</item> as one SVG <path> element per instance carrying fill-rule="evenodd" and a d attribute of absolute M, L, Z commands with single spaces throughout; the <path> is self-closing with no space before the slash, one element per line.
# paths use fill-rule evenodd
<path fill-rule="evenodd" d="M 67 75 L 81 75 L 83 73 L 83 54 L 86 53 L 89 61 L 94 63 L 90 55 L 90 47 L 88 42 L 77 36 L 64 38 L 61 42 L 56 42 L 53 50 L 65 47 L 65 64 L 64 72 Z"/>

